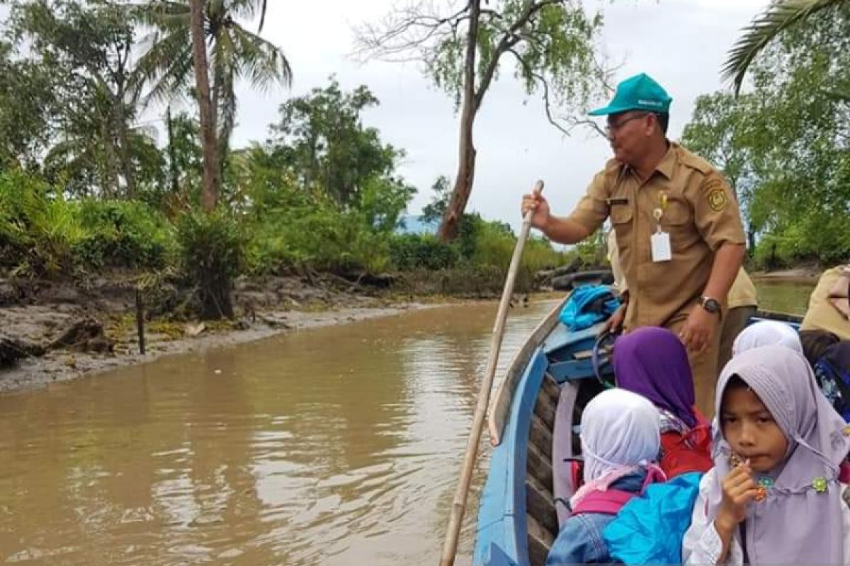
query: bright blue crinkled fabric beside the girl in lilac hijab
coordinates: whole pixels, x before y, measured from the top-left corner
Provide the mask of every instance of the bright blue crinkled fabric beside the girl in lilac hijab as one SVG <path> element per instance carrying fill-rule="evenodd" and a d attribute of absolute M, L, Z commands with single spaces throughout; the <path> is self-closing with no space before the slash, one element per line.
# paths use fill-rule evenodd
<path fill-rule="evenodd" d="M 682 539 L 691 522 L 701 473 L 647 486 L 603 530 L 615 561 L 626 564 L 681 564 Z"/>

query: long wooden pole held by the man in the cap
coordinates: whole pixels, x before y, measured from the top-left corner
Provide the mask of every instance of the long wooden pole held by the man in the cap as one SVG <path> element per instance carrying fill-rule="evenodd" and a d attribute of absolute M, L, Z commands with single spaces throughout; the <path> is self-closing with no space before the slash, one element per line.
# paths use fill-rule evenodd
<path fill-rule="evenodd" d="M 534 192 L 540 193 L 542 190 L 543 182 L 536 182 Z M 473 427 L 469 431 L 469 440 L 467 440 L 467 451 L 463 457 L 463 468 L 461 469 L 461 477 L 457 482 L 455 500 L 454 502 L 452 502 L 451 505 L 449 530 L 445 533 L 445 541 L 443 541 L 443 553 L 439 558 L 439 566 L 452 566 L 452 564 L 455 563 L 455 554 L 457 552 L 457 540 L 461 534 L 463 512 L 466 511 L 467 507 L 469 483 L 473 477 L 475 457 L 478 456 L 478 445 L 479 440 L 481 438 L 481 431 L 482 429 L 484 429 L 484 418 L 487 416 L 487 406 L 490 403 L 490 389 L 492 389 L 493 387 L 493 378 L 496 377 L 496 363 L 499 361 L 501 339 L 505 333 L 505 320 L 507 319 L 507 309 L 510 307 L 511 295 L 513 294 L 513 283 L 516 281 L 517 278 L 517 272 L 519 271 L 519 260 L 523 255 L 525 240 L 528 239 L 529 236 L 529 232 L 531 229 L 531 216 L 533 214 L 534 210 L 529 210 L 523 218 L 523 226 L 519 230 L 517 246 L 513 249 L 511 266 L 507 270 L 505 288 L 501 291 L 501 301 L 499 301 L 499 310 L 496 311 L 496 325 L 493 327 L 493 336 L 490 339 L 490 356 L 487 358 L 487 367 L 484 369 L 484 379 L 481 381 L 478 405 L 475 407 L 475 414 L 473 416 Z"/>

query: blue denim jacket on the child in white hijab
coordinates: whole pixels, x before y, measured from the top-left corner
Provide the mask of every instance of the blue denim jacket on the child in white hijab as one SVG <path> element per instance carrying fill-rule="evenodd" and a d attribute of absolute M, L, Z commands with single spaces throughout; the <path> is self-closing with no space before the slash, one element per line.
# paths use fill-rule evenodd
<path fill-rule="evenodd" d="M 646 472 L 636 472 L 616 480 L 611 487 L 638 493 L 645 476 Z M 612 563 L 602 531 L 614 518 L 615 515 L 603 513 L 581 513 L 568 518 L 549 551 L 547 566 Z"/>

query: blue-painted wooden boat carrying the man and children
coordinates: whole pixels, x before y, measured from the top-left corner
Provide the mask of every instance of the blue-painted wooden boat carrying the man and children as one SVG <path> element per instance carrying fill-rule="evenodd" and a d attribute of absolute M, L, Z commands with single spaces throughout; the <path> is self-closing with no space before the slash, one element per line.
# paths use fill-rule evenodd
<path fill-rule="evenodd" d="M 602 324 L 570 332 L 550 311 L 513 357 L 490 402 L 490 468 L 479 500 L 473 566 L 541 566 L 567 517 L 571 457 L 582 408 L 613 381 L 609 364 L 593 367 Z M 762 319 L 799 317 L 760 312 Z M 603 352 L 604 357 L 605 352 Z M 600 380 L 602 378 L 602 380 Z"/>

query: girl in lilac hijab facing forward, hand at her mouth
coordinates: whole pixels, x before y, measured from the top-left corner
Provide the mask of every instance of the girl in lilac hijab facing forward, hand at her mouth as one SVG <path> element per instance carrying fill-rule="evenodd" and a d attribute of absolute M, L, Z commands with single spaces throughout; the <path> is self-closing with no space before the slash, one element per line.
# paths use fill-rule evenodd
<path fill-rule="evenodd" d="M 839 464 L 850 429 L 808 362 L 779 345 L 723 368 L 715 466 L 700 481 L 689 564 L 850 564 L 850 507 Z"/>

